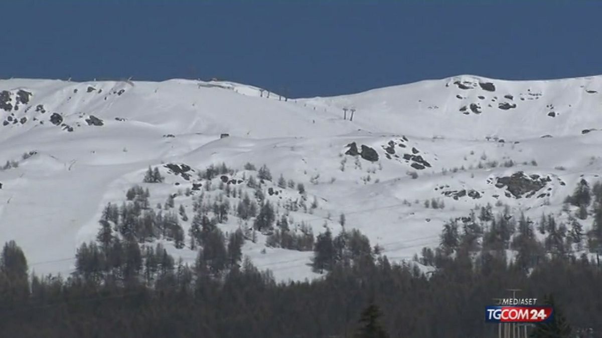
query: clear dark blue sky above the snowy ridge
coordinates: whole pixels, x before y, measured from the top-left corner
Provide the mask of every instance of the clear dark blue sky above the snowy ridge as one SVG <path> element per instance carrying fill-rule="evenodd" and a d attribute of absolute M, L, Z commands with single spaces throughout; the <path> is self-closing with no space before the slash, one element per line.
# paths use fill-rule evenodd
<path fill-rule="evenodd" d="M 300 97 L 602 74 L 600 2 L 369 2 L 3 2 L 0 78 L 217 77 Z"/>

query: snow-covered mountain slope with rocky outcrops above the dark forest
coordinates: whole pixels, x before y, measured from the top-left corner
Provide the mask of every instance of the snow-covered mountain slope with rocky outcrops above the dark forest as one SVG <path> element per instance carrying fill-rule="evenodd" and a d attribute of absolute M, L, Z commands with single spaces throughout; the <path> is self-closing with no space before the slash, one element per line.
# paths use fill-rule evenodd
<path fill-rule="evenodd" d="M 198 172 L 223 162 L 234 172 L 213 179 L 217 190 L 206 194 L 217 194 L 222 180 L 251 194 L 250 162 L 270 169 L 273 182 L 262 190 L 279 218 L 317 235 L 325 224 L 339 232 L 343 213 L 346 227 L 389 259 L 409 259 L 438 244 L 445 220 L 476 205 L 508 204 L 532 218 L 560 212 L 580 179 L 597 180 L 598 129 L 602 76 L 464 75 L 311 99 L 225 81 L 1 80 L 0 161 L 8 164 L 0 171 L 0 242 L 16 240 L 38 274 L 69 274 L 104 206 L 121 204 L 133 185 L 149 189 L 152 207 L 175 194 L 176 210 L 182 204 L 190 217 L 205 191 Z M 149 166 L 166 180 L 142 183 Z M 231 206 L 240 200 L 226 198 Z M 290 207 L 303 198 L 307 212 Z M 426 207 L 433 199 L 444 207 Z M 249 224 L 231 215 L 219 227 Z M 181 225 L 188 237 L 190 220 Z M 166 243 L 185 260 L 196 256 Z M 243 253 L 280 280 L 317 276 L 311 251 L 266 247 L 261 233 Z"/>

